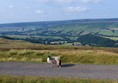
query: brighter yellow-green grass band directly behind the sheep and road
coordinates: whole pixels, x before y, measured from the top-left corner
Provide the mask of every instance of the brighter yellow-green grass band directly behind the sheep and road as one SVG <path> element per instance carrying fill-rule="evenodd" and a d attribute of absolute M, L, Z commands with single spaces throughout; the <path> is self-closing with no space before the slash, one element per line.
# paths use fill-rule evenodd
<path fill-rule="evenodd" d="M 118 54 L 103 50 L 9 50 L 0 51 L 0 61 L 46 62 L 48 55 L 64 63 L 118 64 Z"/>

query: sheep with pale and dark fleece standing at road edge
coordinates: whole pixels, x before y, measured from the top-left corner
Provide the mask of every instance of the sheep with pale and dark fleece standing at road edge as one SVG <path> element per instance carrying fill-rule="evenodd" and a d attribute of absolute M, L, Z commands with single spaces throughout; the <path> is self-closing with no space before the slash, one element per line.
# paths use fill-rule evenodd
<path fill-rule="evenodd" d="M 55 56 L 55 57 L 48 56 L 47 62 L 52 64 L 51 67 L 53 67 L 53 64 L 54 65 L 57 65 L 57 67 L 61 67 L 60 57 L 57 57 L 57 56 Z"/>

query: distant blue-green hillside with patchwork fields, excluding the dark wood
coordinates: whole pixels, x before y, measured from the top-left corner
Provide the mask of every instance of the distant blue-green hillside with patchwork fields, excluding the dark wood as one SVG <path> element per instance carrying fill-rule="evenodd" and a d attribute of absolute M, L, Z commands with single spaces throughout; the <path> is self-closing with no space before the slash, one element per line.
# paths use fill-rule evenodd
<path fill-rule="evenodd" d="M 83 35 L 92 34 L 113 40 L 113 44 L 97 45 L 117 47 L 118 19 L 81 19 L 67 21 L 45 21 L 0 24 L 0 35 L 33 43 L 58 44 L 74 43 Z M 109 43 L 109 40 L 107 43 Z M 110 41 L 111 42 L 111 41 Z M 82 43 L 82 42 L 80 42 Z M 104 43 L 105 44 L 105 43 Z M 91 45 L 87 43 L 87 45 Z"/>

